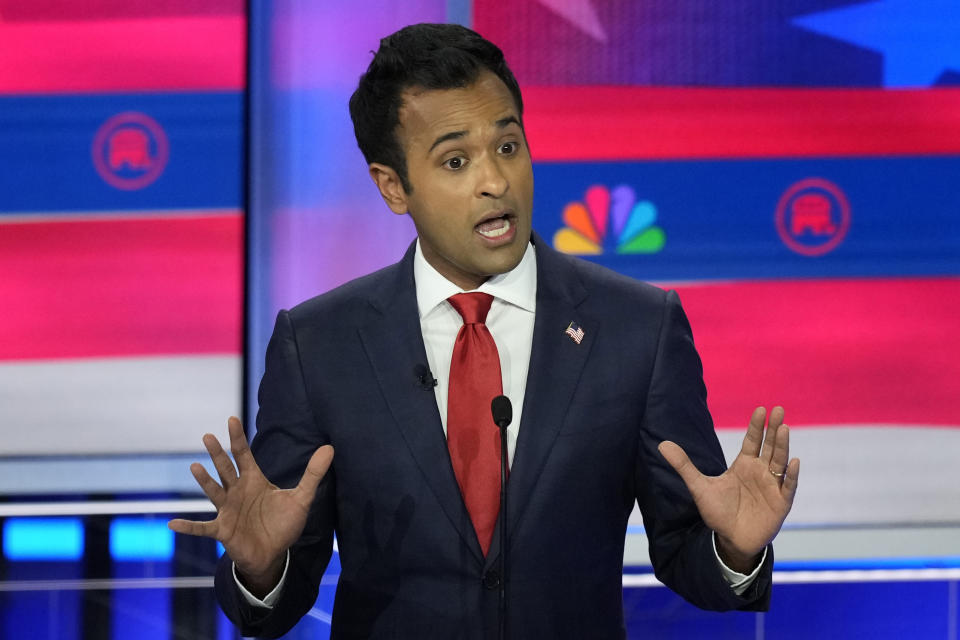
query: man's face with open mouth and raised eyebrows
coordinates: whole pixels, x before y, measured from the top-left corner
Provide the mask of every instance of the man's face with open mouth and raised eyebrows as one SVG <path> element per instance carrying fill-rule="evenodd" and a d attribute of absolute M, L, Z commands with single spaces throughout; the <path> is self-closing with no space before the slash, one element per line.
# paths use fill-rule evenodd
<path fill-rule="evenodd" d="M 517 266 L 530 240 L 533 169 L 506 85 L 484 72 L 464 89 L 408 90 L 397 137 L 412 191 L 387 200 L 410 213 L 427 262 L 462 289 Z"/>

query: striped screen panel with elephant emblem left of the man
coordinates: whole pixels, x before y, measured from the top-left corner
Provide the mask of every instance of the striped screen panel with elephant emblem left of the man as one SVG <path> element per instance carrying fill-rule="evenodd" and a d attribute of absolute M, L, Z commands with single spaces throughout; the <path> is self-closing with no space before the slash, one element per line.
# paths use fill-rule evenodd
<path fill-rule="evenodd" d="M 239 413 L 245 28 L 0 1 L 0 492 L 195 491 Z"/>

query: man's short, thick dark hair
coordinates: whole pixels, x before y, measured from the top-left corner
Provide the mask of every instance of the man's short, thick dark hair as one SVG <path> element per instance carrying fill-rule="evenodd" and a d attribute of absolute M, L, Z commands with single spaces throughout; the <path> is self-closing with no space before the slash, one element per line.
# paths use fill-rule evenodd
<path fill-rule="evenodd" d="M 410 193 L 407 161 L 396 133 L 403 92 L 468 87 L 484 70 L 507 85 L 523 122 L 520 87 L 503 52 L 477 32 L 458 24 L 414 24 L 382 39 L 350 98 L 353 132 L 367 164 L 392 167 Z"/>

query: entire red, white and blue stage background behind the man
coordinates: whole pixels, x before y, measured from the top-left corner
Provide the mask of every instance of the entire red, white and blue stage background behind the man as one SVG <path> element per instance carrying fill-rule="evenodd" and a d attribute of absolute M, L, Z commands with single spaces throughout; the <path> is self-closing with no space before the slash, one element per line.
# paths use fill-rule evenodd
<path fill-rule="evenodd" d="M 0 637 L 237 637 L 166 520 L 277 311 L 413 239 L 347 100 L 415 22 L 506 54 L 540 236 L 680 293 L 728 461 L 794 429 L 771 611 L 684 603 L 635 517 L 630 637 L 960 637 L 956 0 L 0 0 Z"/>

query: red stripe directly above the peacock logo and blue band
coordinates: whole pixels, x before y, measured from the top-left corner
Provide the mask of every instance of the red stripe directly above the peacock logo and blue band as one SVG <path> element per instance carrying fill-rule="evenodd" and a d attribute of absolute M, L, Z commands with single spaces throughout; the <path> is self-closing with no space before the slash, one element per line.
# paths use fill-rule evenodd
<path fill-rule="evenodd" d="M 535 161 L 960 152 L 960 89 L 525 87 Z"/>

